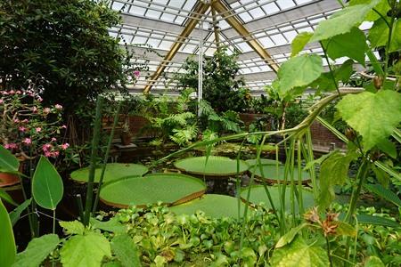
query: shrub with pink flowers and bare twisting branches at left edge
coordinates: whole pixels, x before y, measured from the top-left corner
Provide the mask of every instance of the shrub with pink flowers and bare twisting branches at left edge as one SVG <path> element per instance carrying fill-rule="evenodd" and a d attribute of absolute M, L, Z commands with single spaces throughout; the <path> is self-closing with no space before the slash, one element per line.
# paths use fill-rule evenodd
<path fill-rule="evenodd" d="M 28 89 L 0 91 L 0 143 L 22 158 L 57 158 L 70 146 L 59 140 L 66 128 L 62 106 L 44 107 L 41 91 L 33 83 Z"/>

